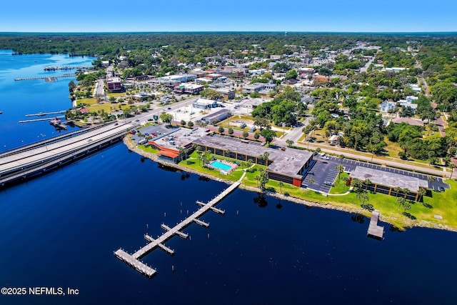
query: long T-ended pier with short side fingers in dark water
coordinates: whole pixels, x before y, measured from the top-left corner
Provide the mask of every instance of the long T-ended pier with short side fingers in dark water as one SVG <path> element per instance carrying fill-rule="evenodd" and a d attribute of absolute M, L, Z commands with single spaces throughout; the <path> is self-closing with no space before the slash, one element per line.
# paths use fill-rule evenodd
<path fill-rule="evenodd" d="M 201 201 L 197 201 L 197 204 L 201 205 L 200 209 L 194 212 L 194 214 L 191 214 L 189 217 L 181 221 L 179 224 L 176 224 L 173 228 L 170 228 L 169 226 L 166 226 L 166 224 L 162 224 L 161 227 L 162 229 L 165 229 L 166 232 L 159 236 L 157 239 L 152 238 L 151 236 L 145 234 L 144 238 L 146 241 L 149 241 L 149 244 L 146 244 L 146 246 L 141 247 L 138 251 L 136 251 L 134 254 L 129 254 L 124 249 L 118 249 L 117 251 L 114 252 L 114 256 L 116 256 L 118 259 L 121 261 L 124 261 L 126 264 L 130 265 L 137 271 L 139 271 L 141 274 L 144 274 L 145 276 L 151 278 L 156 274 L 156 269 L 153 269 L 151 266 L 144 264 L 140 259 L 143 256 L 146 256 L 146 254 L 149 254 L 149 252 L 153 251 L 154 249 L 160 248 L 167 253 L 173 255 L 174 250 L 170 249 L 169 247 L 165 246 L 165 241 L 171 239 L 171 237 L 178 235 L 184 239 L 187 238 L 187 234 L 183 233 L 181 230 L 186 228 L 186 226 L 189 226 L 193 222 L 196 224 L 201 224 L 204 226 L 209 226 L 204 221 L 201 221 L 199 217 L 203 214 L 205 214 L 207 211 L 216 211 L 217 213 L 224 214 L 224 211 L 220 209 L 216 209 L 214 206 L 219 203 L 222 199 L 224 199 L 226 196 L 228 196 L 233 190 L 235 190 L 238 186 L 240 185 L 240 182 L 236 181 L 235 183 L 231 184 L 227 189 L 221 192 L 221 194 L 217 195 L 209 201 L 207 204 L 203 204 Z"/>

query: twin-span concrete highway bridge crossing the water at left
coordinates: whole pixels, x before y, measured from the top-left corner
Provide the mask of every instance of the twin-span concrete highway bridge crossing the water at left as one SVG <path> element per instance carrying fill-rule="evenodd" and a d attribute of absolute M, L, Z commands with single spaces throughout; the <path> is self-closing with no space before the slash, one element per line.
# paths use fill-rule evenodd
<path fill-rule="evenodd" d="M 113 121 L 6 151 L 0 154 L 0 189 L 6 184 L 44 174 L 109 146 L 136 126 L 137 122 L 115 124 Z"/>

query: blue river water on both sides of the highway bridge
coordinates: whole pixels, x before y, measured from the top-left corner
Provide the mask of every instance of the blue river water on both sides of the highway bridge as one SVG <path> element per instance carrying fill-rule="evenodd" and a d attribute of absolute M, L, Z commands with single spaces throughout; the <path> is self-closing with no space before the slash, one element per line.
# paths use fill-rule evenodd
<path fill-rule="evenodd" d="M 14 78 L 91 60 L 0 51 L 1 150 L 57 134 L 47 122 L 19 124 L 25 114 L 71 106 L 70 79 Z M 120 143 L 1 189 L 0 286 L 79 294 L 0 295 L 0 304 L 457 304 L 457 234 L 381 223 L 385 239 L 376 241 L 366 237 L 369 219 L 270 197 L 259 204 L 241 189 L 218 204 L 224 216 L 202 216 L 209 229 L 192 224 L 190 240 L 168 241 L 174 256 L 145 256 L 153 279 L 114 257 L 225 188 L 161 169 Z"/>

